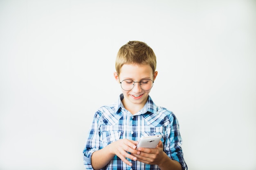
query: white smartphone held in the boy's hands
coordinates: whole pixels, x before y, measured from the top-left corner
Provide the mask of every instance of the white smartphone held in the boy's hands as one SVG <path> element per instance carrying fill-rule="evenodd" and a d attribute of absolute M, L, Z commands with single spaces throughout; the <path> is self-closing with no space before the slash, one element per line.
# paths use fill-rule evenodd
<path fill-rule="evenodd" d="M 161 138 L 162 135 L 141 137 L 137 144 L 137 148 L 156 148 Z"/>

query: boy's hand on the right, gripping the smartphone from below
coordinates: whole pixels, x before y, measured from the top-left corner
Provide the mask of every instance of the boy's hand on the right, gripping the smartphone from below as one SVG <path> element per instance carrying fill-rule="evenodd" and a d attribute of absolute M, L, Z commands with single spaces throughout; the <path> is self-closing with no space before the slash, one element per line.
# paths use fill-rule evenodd
<path fill-rule="evenodd" d="M 160 141 L 156 148 L 137 148 L 140 151 L 139 155 L 132 154 L 137 157 L 137 161 L 158 165 L 164 157 L 163 143 Z"/>

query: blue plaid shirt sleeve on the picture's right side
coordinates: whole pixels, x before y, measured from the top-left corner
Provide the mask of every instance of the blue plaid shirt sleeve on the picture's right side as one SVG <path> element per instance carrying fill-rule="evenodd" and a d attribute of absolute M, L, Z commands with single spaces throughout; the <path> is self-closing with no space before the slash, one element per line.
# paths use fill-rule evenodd
<path fill-rule="evenodd" d="M 182 170 L 187 169 L 182 152 L 182 138 L 179 130 L 179 122 L 172 113 L 169 118 L 169 124 L 165 131 L 164 151 L 173 160 L 176 160 L 182 166 Z"/>

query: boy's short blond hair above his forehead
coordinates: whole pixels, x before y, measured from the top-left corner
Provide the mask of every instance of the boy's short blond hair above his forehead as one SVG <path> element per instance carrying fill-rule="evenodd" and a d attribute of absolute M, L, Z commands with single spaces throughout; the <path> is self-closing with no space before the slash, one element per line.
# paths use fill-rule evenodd
<path fill-rule="evenodd" d="M 155 72 L 157 61 L 152 48 L 141 41 L 129 41 L 122 46 L 115 62 L 117 74 L 120 74 L 121 67 L 124 64 L 148 64 Z"/>

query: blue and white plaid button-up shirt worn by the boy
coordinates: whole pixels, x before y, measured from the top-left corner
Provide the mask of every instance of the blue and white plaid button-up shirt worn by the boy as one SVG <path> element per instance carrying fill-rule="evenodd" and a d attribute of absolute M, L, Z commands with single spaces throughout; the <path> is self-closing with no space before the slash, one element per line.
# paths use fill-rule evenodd
<path fill-rule="evenodd" d="M 163 138 L 164 152 L 173 160 L 180 162 L 182 169 L 187 168 L 182 153 L 182 138 L 179 132 L 179 123 L 173 112 L 155 105 L 148 96 L 145 106 L 132 115 L 121 102 L 124 95 L 119 96 L 117 104 L 101 107 L 94 116 L 92 128 L 83 150 L 83 159 L 86 169 L 93 169 L 91 164 L 92 153 L 102 149 L 119 139 L 138 141 L 142 136 L 159 135 Z M 126 165 L 115 155 L 104 167 L 104 170 L 159 170 L 157 165 L 148 165 L 128 159 L 132 166 Z"/>

